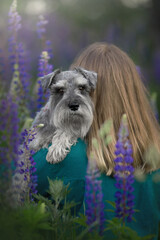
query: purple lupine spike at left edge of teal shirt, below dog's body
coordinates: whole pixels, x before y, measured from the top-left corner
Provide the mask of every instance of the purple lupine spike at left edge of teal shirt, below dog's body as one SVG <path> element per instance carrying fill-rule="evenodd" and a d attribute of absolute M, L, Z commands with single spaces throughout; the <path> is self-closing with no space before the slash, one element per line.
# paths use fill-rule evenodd
<path fill-rule="evenodd" d="M 24 159 L 18 164 L 18 172 L 23 175 L 23 180 L 27 182 L 27 189 L 23 192 L 22 201 L 25 200 L 26 195 L 28 200 L 33 201 L 33 194 L 37 193 L 37 176 L 34 175 L 36 163 L 32 157 L 35 152 L 29 148 L 30 142 L 35 138 L 36 128 L 25 129 L 21 134 L 23 144 L 19 150 L 19 155 L 22 155 Z"/>

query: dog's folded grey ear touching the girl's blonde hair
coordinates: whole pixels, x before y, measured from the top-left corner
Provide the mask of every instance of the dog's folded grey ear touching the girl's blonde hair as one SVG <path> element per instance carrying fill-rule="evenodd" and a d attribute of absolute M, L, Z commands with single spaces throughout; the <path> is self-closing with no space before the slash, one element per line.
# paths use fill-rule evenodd
<path fill-rule="evenodd" d="M 84 78 L 89 81 L 91 88 L 95 89 L 97 84 L 97 73 L 93 71 L 88 71 L 81 67 L 74 68 L 78 73 L 80 73 Z"/>

